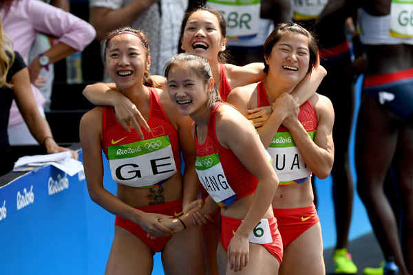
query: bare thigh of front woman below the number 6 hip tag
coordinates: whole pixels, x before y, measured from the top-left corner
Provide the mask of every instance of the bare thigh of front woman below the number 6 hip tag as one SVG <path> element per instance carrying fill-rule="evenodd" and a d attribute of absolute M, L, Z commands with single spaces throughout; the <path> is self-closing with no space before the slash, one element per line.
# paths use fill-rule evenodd
<path fill-rule="evenodd" d="M 248 265 L 241 271 L 230 270 L 231 265 L 226 265 L 226 275 L 229 274 L 268 274 L 277 275 L 279 262 L 264 246 L 249 243 Z"/>

